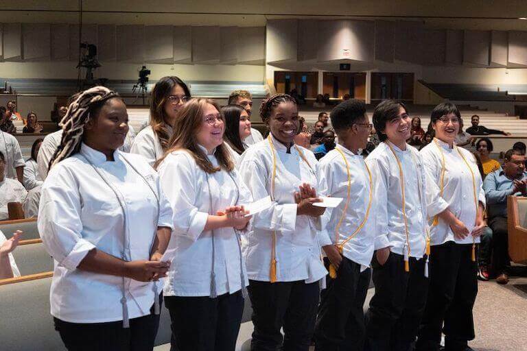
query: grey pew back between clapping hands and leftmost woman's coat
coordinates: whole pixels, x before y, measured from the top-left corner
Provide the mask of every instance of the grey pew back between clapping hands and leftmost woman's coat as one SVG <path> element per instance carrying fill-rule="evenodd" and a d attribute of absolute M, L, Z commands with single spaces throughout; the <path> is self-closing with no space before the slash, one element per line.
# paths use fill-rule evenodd
<path fill-rule="evenodd" d="M 20 241 L 13 257 L 22 276 L 53 271 L 53 258 L 40 239 Z"/>

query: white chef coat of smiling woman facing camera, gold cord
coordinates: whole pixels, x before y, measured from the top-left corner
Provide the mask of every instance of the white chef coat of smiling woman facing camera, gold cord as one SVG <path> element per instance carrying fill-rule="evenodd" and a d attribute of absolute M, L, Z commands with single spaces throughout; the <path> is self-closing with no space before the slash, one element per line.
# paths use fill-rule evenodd
<path fill-rule="evenodd" d="M 276 232 L 277 281 L 305 280 L 316 282 L 327 271 L 320 261 L 320 239 L 327 238 L 323 216 L 296 215 L 294 192 L 303 183 L 311 184 L 323 195 L 323 176 L 312 152 L 298 147 L 309 162 L 305 162 L 296 147 L 287 148 L 272 138 L 276 150 L 277 172 L 273 205 L 253 216 L 252 230 L 242 238 L 250 279 L 270 281 L 272 233 Z M 239 165 L 239 172 L 255 201 L 271 195 L 273 157 L 268 139 L 249 147 Z M 319 232 L 320 230 L 320 232 Z"/>

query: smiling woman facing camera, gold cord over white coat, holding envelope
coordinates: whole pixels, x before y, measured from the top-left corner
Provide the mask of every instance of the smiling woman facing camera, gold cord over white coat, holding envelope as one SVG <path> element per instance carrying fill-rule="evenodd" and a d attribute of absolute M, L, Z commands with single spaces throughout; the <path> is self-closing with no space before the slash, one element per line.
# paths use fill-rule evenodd
<path fill-rule="evenodd" d="M 272 201 L 242 238 L 255 325 L 251 350 L 277 350 L 283 343 L 283 350 L 307 351 L 319 280 L 327 274 L 317 234 L 325 231 L 324 208 L 314 206 L 323 181 L 314 154 L 294 144 L 301 130 L 296 100 L 272 95 L 261 102 L 260 117 L 270 134 L 247 149 L 239 165 L 253 198 Z"/>

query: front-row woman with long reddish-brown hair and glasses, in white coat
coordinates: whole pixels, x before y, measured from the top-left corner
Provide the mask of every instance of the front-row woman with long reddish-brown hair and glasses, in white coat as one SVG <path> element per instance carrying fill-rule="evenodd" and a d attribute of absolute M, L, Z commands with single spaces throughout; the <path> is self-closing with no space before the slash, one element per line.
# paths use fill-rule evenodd
<path fill-rule="evenodd" d="M 159 178 L 174 210 L 174 257 L 165 282 L 172 350 L 233 351 L 248 284 L 239 231 L 252 202 L 223 142 L 218 105 L 191 99 L 181 108 Z"/>

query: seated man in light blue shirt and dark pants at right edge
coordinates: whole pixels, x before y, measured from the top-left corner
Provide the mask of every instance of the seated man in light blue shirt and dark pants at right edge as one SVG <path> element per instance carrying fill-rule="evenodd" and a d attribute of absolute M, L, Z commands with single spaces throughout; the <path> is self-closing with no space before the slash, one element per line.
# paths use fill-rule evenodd
<path fill-rule="evenodd" d="M 527 196 L 527 173 L 525 155 L 510 149 L 505 153 L 503 169 L 487 175 L 483 182 L 487 196 L 489 227 L 493 232 L 493 265 L 497 274 L 496 282 L 508 283 L 508 237 L 507 237 L 507 196 Z"/>

